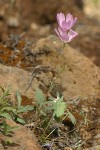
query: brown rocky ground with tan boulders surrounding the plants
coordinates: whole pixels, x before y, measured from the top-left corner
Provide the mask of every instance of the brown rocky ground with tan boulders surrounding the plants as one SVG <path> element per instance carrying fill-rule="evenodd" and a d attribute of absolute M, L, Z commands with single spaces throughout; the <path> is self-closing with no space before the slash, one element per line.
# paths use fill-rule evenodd
<path fill-rule="evenodd" d="M 98 17 L 89 18 L 84 7 L 79 0 L 0 1 L 0 86 L 11 84 L 12 100 L 19 90 L 23 104 L 33 105 L 36 89 L 47 94 L 52 81 L 56 84 L 52 94 L 63 95 L 76 118 L 75 126 L 68 118 L 55 124 L 59 136 L 47 141 L 52 150 L 100 148 L 100 22 Z M 78 17 L 79 35 L 64 49 L 54 33 L 57 12 Z M 0 135 L 1 150 L 48 149 L 39 140 L 41 133 L 19 126 L 10 137 L 13 144 L 4 143 L 9 137 Z"/>

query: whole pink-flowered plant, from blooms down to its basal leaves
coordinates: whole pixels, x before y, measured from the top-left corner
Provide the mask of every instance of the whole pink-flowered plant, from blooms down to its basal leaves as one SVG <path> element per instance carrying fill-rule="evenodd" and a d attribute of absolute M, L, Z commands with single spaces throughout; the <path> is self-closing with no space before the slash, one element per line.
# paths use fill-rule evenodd
<path fill-rule="evenodd" d="M 73 18 L 73 16 L 68 13 L 66 16 L 63 13 L 57 14 L 57 23 L 58 27 L 55 28 L 55 32 L 60 40 L 63 42 L 64 46 L 67 42 L 72 41 L 78 33 L 72 30 L 73 25 L 76 23 L 77 17 Z M 64 48 L 63 46 L 63 48 Z M 66 68 L 63 66 L 61 67 L 61 73 Z M 58 75 L 59 76 L 59 75 Z M 57 76 L 57 77 L 58 77 Z M 54 86 L 54 81 L 51 82 L 51 87 L 49 89 L 52 90 Z M 70 112 L 67 107 L 67 104 L 64 102 L 63 96 L 60 96 L 57 93 L 55 97 L 46 97 L 44 96 L 43 92 L 38 89 L 35 94 L 36 98 L 36 121 L 39 129 L 42 129 L 42 136 L 41 138 L 46 140 L 56 129 L 50 130 L 52 124 L 54 122 L 59 123 L 62 122 L 64 117 L 69 117 L 71 122 L 75 125 L 76 119 Z"/>

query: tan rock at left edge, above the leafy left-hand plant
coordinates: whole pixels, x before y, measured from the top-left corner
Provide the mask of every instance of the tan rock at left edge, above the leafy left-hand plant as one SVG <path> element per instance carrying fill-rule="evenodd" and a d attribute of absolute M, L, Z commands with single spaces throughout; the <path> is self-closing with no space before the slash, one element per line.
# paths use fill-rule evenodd
<path fill-rule="evenodd" d="M 31 74 L 17 67 L 9 67 L 0 64 L 0 86 L 8 87 L 11 85 L 12 96 L 16 90 L 19 90 L 22 95 L 33 97 L 33 91 L 37 88 L 38 82 L 34 79 L 34 88 L 30 88 L 26 92 L 26 88 L 31 80 Z"/>

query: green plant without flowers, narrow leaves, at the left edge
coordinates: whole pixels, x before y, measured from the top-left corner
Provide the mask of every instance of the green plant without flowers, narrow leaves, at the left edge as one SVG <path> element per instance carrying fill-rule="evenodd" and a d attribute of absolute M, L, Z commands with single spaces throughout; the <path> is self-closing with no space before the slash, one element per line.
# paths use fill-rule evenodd
<path fill-rule="evenodd" d="M 7 89 L 1 87 L 2 95 L 0 96 L 0 131 L 5 135 L 16 129 L 16 127 L 10 127 L 6 124 L 6 119 L 12 119 L 17 123 L 25 124 L 26 122 L 21 117 L 25 112 L 33 110 L 33 106 L 23 106 L 21 96 L 19 92 L 16 92 L 16 103 L 12 104 L 10 100 L 10 86 Z"/>

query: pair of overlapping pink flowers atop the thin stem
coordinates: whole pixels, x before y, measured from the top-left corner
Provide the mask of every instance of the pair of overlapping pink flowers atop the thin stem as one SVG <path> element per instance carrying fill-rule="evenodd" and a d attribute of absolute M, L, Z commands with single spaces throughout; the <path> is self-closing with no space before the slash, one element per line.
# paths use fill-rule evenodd
<path fill-rule="evenodd" d="M 76 21 L 77 17 L 73 18 L 70 13 L 66 16 L 63 13 L 57 14 L 58 28 L 55 29 L 55 32 L 64 43 L 72 41 L 78 35 L 71 29 Z"/>

